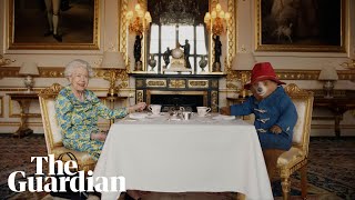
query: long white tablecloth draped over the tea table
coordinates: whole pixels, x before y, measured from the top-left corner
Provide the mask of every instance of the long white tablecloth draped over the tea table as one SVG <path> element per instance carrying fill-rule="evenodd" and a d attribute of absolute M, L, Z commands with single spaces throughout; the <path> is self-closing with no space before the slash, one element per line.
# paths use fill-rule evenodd
<path fill-rule="evenodd" d="M 121 120 L 112 124 L 94 170 L 94 178 L 118 176 L 125 177 L 126 189 L 233 191 L 246 199 L 273 199 L 255 128 L 242 120 Z"/>

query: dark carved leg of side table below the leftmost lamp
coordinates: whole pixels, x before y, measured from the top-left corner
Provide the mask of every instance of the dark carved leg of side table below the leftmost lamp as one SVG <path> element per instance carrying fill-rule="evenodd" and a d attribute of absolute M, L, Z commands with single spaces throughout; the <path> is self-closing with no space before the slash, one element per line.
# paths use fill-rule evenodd
<path fill-rule="evenodd" d="M 22 136 L 31 134 L 33 133 L 33 130 L 28 128 L 27 120 L 28 120 L 28 111 L 30 108 L 31 100 L 17 100 L 19 102 L 21 112 L 20 112 L 20 127 L 19 129 L 13 133 L 13 137 L 21 138 Z"/>

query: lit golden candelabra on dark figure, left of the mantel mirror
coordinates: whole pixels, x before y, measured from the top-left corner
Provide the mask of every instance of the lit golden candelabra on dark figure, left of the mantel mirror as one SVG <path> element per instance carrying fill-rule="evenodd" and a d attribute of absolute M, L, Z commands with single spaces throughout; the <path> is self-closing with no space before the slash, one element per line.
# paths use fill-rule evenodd
<path fill-rule="evenodd" d="M 143 33 L 149 29 L 150 22 L 152 22 L 151 13 L 143 11 L 139 3 L 135 4 L 134 11 L 126 12 L 126 20 L 129 23 L 129 31 L 135 33 L 134 41 L 134 70 L 142 71 L 142 39 Z M 144 53 L 143 53 L 144 54 Z"/>

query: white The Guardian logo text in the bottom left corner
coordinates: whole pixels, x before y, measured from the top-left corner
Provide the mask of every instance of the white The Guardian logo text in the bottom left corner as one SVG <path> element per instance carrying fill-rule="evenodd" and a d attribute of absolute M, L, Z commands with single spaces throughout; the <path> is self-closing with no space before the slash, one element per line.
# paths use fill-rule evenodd
<path fill-rule="evenodd" d="M 49 164 L 49 173 L 43 173 L 43 162 Z M 93 179 L 93 172 L 88 171 L 85 177 L 84 171 L 78 171 L 78 163 L 73 160 L 67 161 L 64 164 L 61 160 L 54 160 L 54 154 L 49 157 L 31 157 L 31 162 L 37 162 L 34 177 L 26 177 L 24 171 L 14 171 L 8 178 L 8 186 L 14 192 L 23 192 L 28 189 L 30 192 L 65 192 L 67 182 L 70 183 L 70 189 L 74 192 L 110 192 L 125 191 L 124 177 L 97 177 Z M 57 169 L 55 169 L 57 164 Z M 20 188 L 14 184 L 16 176 L 20 173 L 26 181 L 19 181 Z M 65 174 L 65 176 L 64 176 Z M 77 183 L 79 180 L 79 184 Z"/>

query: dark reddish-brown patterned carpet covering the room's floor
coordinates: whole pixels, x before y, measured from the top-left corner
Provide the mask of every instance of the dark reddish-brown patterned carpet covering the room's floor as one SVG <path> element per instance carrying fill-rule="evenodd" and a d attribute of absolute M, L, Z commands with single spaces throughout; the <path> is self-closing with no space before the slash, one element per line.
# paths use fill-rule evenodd
<path fill-rule="evenodd" d="M 47 156 L 43 136 L 22 139 L 0 134 L 0 199 L 41 199 L 42 194 L 11 192 L 7 180 L 13 171 L 36 172 L 31 156 Z M 44 169 L 47 170 L 47 168 Z M 311 138 L 308 163 L 308 199 L 355 199 L 355 138 Z M 292 177 L 292 199 L 300 199 L 300 174 Z M 275 199 L 281 199 L 280 182 L 273 183 Z M 146 199 L 233 199 L 229 193 L 150 193 Z M 154 197 L 154 198 L 153 198 Z M 145 199 L 145 198 L 144 198 Z M 165 198 L 166 199 L 166 198 Z"/>

